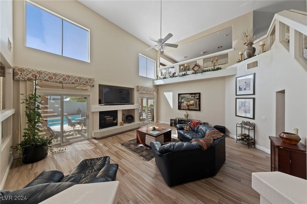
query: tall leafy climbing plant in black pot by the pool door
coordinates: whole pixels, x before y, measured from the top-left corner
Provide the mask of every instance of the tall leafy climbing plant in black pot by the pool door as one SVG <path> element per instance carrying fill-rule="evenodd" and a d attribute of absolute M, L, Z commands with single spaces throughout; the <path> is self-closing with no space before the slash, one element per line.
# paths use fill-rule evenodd
<path fill-rule="evenodd" d="M 21 104 L 25 104 L 25 116 L 27 118 L 27 127 L 22 135 L 23 140 L 12 146 L 12 149 L 19 151 L 20 162 L 34 163 L 47 157 L 48 147 L 52 144 L 52 136 L 42 137 L 39 135 L 42 128 L 42 100 L 37 94 L 36 77 L 33 80 L 34 92 L 24 96 Z"/>

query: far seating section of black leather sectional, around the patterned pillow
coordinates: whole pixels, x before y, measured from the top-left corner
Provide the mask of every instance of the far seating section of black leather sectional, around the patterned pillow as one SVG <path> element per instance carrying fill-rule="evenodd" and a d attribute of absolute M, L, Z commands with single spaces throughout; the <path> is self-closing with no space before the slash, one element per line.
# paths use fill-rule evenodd
<path fill-rule="evenodd" d="M 184 130 L 183 126 L 189 126 L 191 130 Z M 192 139 L 204 138 L 210 130 L 216 130 L 214 127 L 204 124 L 199 124 L 195 128 L 192 128 L 188 123 L 177 124 L 176 129 L 178 139 L 180 139 L 181 142 L 190 142 Z"/>

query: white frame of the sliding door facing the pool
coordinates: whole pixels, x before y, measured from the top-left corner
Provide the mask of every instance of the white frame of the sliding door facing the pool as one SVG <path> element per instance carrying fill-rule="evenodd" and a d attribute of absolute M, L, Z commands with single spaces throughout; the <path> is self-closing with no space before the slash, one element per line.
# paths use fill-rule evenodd
<path fill-rule="evenodd" d="M 63 117 L 61 117 L 61 137 L 60 137 L 60 144 L 56 144 L 53 145 L 53 147 L 57 147 L 57 146 L 62 146 L 62 145 L 67 145 L 70 143 L 74 143 L 74 142 L 80 142 L 82 140 L 87 140 L 90 138 L 90 126 L 91 126 L 91 121 L 90 121 L 90 99 L 91 99 L 91 94 L 90 93 L 84 93 L 84 91 L 75 91 L 75 90 L 70 90 L 70 93 L 67 92 L 68 90 L 65 89 L 44 89 L 44 88 L 40 88 L 38 90 L 38 94 L 42 95 L 42 96 L 60 96 L 61 100 L 60 100 L 60 104 L 61 104 L 61 115 L 64 115 L 64 101 L 63 101 L 63 96 L 84 96 L 87 97 L 87 137 L 86 138 L 80 138 L 80 139 L 76 139 L 74 141 L 71 142 L 63 142 L 63 135 L 64 135 L 64 131 L 63 131 Z"/>

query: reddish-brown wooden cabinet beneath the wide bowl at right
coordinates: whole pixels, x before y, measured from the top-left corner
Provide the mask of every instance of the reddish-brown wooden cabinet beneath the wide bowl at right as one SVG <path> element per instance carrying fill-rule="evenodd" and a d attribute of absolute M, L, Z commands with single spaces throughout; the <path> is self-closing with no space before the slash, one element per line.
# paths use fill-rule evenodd
<path fill-rule="evenodd" d="M 306 146 L 282 142 L 279 137 L 269 136 L 271 141 L 271 172 L 279 171 L 302 179 L 307 177 Z"/>

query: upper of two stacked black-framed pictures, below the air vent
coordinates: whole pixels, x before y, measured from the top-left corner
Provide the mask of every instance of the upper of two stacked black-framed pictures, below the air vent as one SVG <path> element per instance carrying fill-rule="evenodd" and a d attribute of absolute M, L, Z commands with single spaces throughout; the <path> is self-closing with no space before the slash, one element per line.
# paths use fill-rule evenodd
<path fill-rule="evenodd" d="M 255 95 L 255 73 L 235 77 L 235 95 Z"/>

